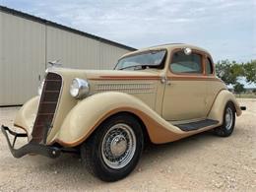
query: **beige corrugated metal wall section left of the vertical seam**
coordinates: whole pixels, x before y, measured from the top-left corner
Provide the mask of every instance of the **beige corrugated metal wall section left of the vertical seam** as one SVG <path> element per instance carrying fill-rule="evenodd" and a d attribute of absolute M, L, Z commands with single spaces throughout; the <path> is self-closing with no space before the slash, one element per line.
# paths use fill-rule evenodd
<path fill-rule="evenodd" d="M 0 105 L 20 104 L 36 94 L 45 68 L 45 27 L 0 12 Z"/>

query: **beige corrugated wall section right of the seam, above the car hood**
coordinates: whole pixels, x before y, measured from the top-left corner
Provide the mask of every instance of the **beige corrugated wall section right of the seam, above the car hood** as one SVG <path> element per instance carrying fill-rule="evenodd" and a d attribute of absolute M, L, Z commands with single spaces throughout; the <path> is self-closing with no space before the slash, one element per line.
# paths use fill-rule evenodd
<path fill-rule="evenodd" d="M 47 61 L 61 59 L 64 67 L 112 69 L 128 50 L 98 40 L 46 27 Z"/>

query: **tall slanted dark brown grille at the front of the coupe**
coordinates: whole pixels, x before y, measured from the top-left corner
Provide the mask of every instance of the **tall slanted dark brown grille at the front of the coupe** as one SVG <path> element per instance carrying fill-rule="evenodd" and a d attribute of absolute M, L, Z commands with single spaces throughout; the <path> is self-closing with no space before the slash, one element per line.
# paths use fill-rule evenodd
<path fill-rule="evenodd" d="M 62 78 L 55 73 L 48 73 L 43 85 L 37 115 L 32 129 L 32 142 L 45 143 L 49 128 L 57 107 Z"/>

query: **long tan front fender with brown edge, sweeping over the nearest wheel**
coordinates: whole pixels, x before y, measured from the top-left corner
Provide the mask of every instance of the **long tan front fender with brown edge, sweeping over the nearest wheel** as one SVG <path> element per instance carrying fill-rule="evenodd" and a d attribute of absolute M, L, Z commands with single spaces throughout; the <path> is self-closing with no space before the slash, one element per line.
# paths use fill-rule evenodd
<path fill-rule="evenodd" d="M 118 112 L 130 112 L 139 117 L 147 129 L 151 142 L 155 144 L 176 141 L 204 131 L 184 132 L 161 118 L 160 114 L 139 98 L 124 93 L 107 92 L 80 101 L 69 112 L 54 139 L 47 142 L 59 143 L 64 147 L 78 146 L 100 123 Z"/>

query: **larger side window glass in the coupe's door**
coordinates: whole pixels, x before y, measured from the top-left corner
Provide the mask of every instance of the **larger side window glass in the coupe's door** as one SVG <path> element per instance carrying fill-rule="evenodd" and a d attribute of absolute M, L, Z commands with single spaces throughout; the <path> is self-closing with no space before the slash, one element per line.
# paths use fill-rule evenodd
<path fill-rule="evenodd" d="M 177 51 L 172 55 L 170 69 L 173 73 L 203 73 L 202 56 L 197 53 L 186 55 L 184 51 Z"/>

